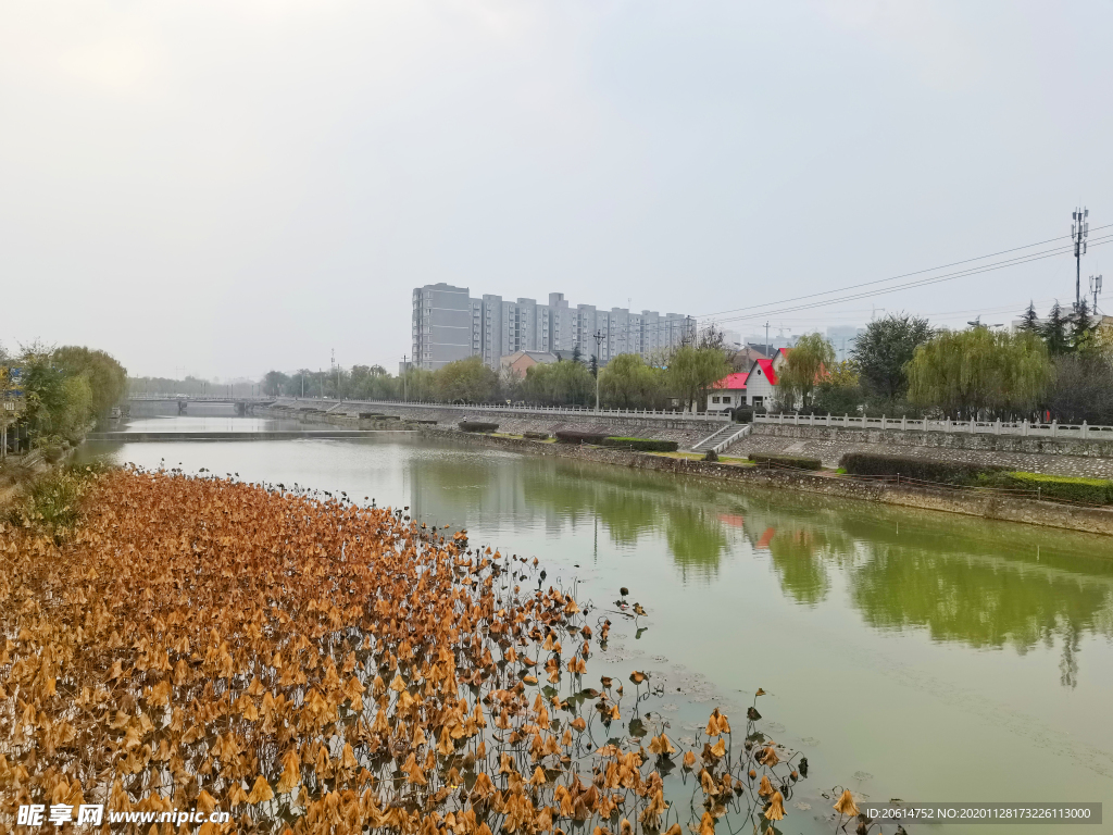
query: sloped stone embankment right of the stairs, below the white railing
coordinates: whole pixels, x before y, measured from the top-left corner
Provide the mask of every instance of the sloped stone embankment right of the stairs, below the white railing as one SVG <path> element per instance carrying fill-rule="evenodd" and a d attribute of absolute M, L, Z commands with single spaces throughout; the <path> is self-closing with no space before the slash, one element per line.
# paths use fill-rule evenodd
<path fill-rule="evenodd" d="M 825 466 L 838 466 L 847 452 L 876 452 L 1054 475 L 1113 478 L 1110 441 L 755 423 L 751 433 L 723 454 L 745 458 L 756 452 L 818 458 Z"/>

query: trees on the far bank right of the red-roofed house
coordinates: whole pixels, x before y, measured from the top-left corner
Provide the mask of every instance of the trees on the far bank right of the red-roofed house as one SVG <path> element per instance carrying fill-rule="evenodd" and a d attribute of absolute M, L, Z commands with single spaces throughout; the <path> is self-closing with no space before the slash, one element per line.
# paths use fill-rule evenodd
<path fill-rule="evenodd" d="M 1084 301 L 1044 318 L 1030 304 L 1014 332 L 894 314 L 871 322 L 844 363 L 819 334 L 802 337 L 774 407 L 1113 424 L 1113 330 Z"/>

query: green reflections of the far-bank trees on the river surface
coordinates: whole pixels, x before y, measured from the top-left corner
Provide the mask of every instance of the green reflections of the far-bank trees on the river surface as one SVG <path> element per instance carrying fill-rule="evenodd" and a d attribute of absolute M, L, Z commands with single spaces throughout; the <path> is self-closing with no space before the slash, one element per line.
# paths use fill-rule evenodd
<path fill-rule="evenodd" d="M 594 524 L 621 549 L 663 543 L 684 582 L 713 582 L 726 559 L 768 558 L 802 606 L 824 605 L 840 577 L 848 600 L 835 602 L 875 629 L 1022 655 L 1057 642 L 1067 687 L 1080 637 L 1113 636 L 1113 549 L 1099 538 L 516 455 L 414 455 L 410 479 L 425 517 Z"/>

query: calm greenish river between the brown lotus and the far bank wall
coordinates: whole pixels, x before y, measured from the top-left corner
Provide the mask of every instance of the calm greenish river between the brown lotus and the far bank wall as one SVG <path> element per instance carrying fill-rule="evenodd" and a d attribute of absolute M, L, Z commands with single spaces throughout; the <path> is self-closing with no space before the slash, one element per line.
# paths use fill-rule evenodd
<path fill-rule="evenodd" d="M 209 429 L 279 428 L 219 422 Z M 648 616 L 615 625 L 608 664 L 667 685 L 656 709 L 680 741 L 717 704 L 743 724 L 764 688 L 766 733 L 810 763 L 794 803 L 814 811 L 836 784 L 875 800 L 1113 799 L 1104 538 L 396 433 L 96 442 L 82 455 L 408 507 L 538 557 L 546 583 L 575 578 L 578 599 L 603 609 L 626 586 Z M 789 831 L 811 832 L 807 814 Z M 1025 827 L 1041 831 L 1058 827 Z"/>

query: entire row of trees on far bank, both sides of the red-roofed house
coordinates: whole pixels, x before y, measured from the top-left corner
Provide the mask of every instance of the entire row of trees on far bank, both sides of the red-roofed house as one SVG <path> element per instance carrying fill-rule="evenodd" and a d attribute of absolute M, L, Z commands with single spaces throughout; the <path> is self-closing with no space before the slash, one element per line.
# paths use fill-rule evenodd
<path fill-rule="evenodd" d="M 520 377 L 472 356 L 397 376 L 381 365 L 272 371 L 259 387 L 270 396 L 591 406 L 598 383 L 603 407 L 703 410 L 715 383 L 742 356 L 727 348 L 711 325 L 668 353 L 648 361 L 621 354 L 603 367 L 577 352 L 534 365 Z M 982 325 L 937 328 L 926 318 L 890 314 L 866 326 L 849 358 L 835 357 L 821 334 L 799 337 L 786 354 L 768 407 L 1113 424 L 1113 330 L 1100 326 L 1085 302 L 1070 310 L 1056 303 L 1043 318 L 1030 305 L 1012 333 Z M 739 367 L 748 371 L 745 363 Z"/>

